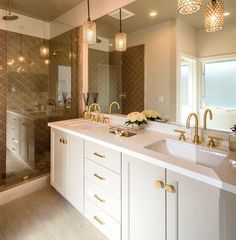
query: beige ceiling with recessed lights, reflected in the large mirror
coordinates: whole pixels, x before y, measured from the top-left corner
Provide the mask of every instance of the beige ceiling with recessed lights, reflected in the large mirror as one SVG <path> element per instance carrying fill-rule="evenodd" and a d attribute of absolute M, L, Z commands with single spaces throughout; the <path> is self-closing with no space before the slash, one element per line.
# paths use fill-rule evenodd
<path fill-rule="evenodd" d="M 181 15 L 177 12 L 177 0 L 136 0 L 124 7 L 124 9 L 135 13 L 133 17 L 123 20 L 125 32 L 133 32 L 154 24 L 159 24 L 167 20 L 179 18 L 188 22 L 196 29 L 204 28 L 204 5 L 210 0 L 203 0 L 203 6 L 193 15 Z M 225 18 L 225 24 L 236 22 L 236 0 L 224 0 L 225 11 L 231 15 Z M 151 18 L 149 13 L 156 11 L 158 15 Z M 103 37 L 112 37 L 119 29 L 119 21 L 106 15 L 97 21 L 98 34 Z"/>

